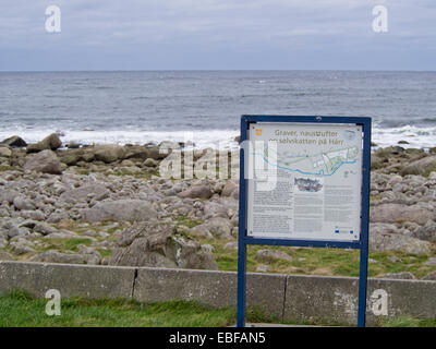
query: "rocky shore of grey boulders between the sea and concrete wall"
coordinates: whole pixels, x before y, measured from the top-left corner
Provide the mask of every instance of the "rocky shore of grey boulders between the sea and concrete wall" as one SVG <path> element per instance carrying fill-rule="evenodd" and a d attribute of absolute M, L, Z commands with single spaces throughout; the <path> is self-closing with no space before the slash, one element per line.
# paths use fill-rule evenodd
<path fill-rule="evenodd" d="M 0 144 L 0 260 L 217 269 L 208 241 L 234 250 L 238 180 L 161 178 L 154 144 L 61 147 Z M 435 149 L 376 149 L 371 177 L 371 251 L 436 265 Z"/>

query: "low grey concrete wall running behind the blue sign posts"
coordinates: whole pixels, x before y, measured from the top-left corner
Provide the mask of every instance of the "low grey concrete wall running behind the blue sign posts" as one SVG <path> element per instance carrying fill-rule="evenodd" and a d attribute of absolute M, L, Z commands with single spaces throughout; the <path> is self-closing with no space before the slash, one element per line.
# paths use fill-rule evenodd
<path fill-rule="evenodd" d="M 356 278 L 249 273 L 247 305 L 278 320 L 355 324 L 358 285 Z M 44 297 L 57 289 L 62 297 L 183 299 L 234 306 L 237 287 L 235 273 L 0 262 L 0 293 L 24 289 Z M 436 318 L 436 281 L 370 279 L 367 323 L 383 315 Z"/>

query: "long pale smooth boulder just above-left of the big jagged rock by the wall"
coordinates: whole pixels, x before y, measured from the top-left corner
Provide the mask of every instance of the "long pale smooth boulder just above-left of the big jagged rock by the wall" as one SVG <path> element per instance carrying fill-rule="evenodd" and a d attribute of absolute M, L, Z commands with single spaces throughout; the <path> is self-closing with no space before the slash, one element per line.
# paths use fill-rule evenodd
<path fill-rule="evenodd" d="M 82 213 L 85 221 L 97 222 L 105 220 L 134 220 L 144 221 L 157 218 L 153 205 L 143 200 L 104 201 Z"/>

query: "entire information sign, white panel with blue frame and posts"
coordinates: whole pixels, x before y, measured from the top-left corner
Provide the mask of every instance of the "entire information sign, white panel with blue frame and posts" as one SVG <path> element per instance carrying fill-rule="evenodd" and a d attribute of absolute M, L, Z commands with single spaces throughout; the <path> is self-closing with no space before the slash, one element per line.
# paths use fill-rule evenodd
<path fill-rule="evenodd" d="M 371 118 L 242 116 L 238 326 L 249 244 L 359 249 L 365 325 L 370 171 Z"/>

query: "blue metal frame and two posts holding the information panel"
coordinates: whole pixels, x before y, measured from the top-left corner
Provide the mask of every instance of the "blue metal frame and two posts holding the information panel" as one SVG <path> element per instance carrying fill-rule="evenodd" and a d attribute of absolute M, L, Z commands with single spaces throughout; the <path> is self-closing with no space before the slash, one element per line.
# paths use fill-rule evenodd
<path fill-rule="evenodd" d="M 364 327 L 366 320 L 366 286 L 368 260 L 368 226 L 370 226 L 370 181 L 371 181 L 371 118 L 358 117 L 307 117 L 307 116 L 242 116 L 241 144 L 247 140 L 251 123 L 330 123 L 362 125 L 363 157 L 362 157 L 362 195 L 361 195 L 361 234 L 359 241 L 325 241 L 301 239 L 270 239 L 249 237 L 246 233 L 246 200 L 247 180 L 244 178 L 245 154 L 240 151 L 240 198 L 239 198 L 239 238 L 238 238 L 238 327 L 245 326 L 246 309 L 246 245 L 288 245 L 307 248 L 335 248 L 360 250 L 359 275 L 359 310 L 358 326 Z"/>

